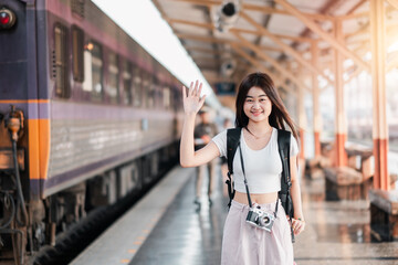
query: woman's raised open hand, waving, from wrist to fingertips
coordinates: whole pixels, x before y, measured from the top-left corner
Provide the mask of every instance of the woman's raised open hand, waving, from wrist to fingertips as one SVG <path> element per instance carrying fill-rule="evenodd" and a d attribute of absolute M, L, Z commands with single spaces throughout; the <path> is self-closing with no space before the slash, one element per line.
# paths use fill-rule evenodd
<path fill-rule="evenodd" d="M 191 82 L 187 95 L 187 88 L 182 86 L 184 112 L 186 114 L 197 114 L 203 106 L 206 95 L 200 97 L 201 88 L 202 83 L 196 81 L 193 86 L 193 82 Z"/>

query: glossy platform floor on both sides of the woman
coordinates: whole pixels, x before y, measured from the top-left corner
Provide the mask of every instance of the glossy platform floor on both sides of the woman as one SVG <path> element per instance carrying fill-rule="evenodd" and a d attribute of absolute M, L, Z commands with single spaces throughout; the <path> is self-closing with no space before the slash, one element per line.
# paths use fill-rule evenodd
<path fill-rule="evenodd" d="M 220 264 L 227 198 L 219 180 L 213 205 L 209 206 L 203 197 L 197 211 L 193 179 L 192 176 L 177 194 L 130 265 Z M 297 265 L 398 264 L 398 242 L 370 242 L 368 202 L 326 202 L 324 190 L 322 179 L 302 181 L 307 226 L 294 244 Z"/>

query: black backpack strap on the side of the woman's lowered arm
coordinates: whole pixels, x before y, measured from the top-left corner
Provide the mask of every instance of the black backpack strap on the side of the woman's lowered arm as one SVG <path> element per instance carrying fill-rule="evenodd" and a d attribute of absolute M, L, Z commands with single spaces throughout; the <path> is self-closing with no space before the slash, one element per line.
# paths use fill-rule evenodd
<path fill-rule="evenodd" d="M 277 147 L 282 161 L 282 178 L 281 178 L 281 191 L 279 197 L 282 202 L 286 214 L 290 220 L 293 219 L 293 201 L 290 194 L 292 187 L 292 179 L 290 172 L 290 146 L 291 146 L 291 132 L 287 130 L 277 129 Z M 293 227 L 291 225 L 292 242 L 294 242 Z"/>

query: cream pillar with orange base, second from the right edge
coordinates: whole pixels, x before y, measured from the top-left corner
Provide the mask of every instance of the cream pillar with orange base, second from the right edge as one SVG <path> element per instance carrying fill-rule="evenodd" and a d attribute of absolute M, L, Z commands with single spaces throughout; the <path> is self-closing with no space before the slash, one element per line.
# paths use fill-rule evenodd
<path fill-rule="evenodd" d="M 342 31 L 342 21 L 335 21 L 334 30 L 335 39 L 339 44 L 344 43 L 344 35 Z M 347 155 L 345 152 L 346 141 L 346 116 L 344 108 L 344 80 L 343 80 L 343 54 L 337 50 L 334 51 L 335 56 L 335 95 L 336 95 L 336 121 L 335 121 L 335 166 L 344 167 L 347 165 Z"/>

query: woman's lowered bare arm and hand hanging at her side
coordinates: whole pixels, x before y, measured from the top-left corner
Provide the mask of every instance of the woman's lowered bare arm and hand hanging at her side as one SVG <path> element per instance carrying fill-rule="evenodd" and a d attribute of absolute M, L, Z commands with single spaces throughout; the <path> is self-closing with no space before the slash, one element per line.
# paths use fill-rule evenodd
<path fill-rule="evenodd" d="M 305 221 L 302 209 L 300 183 L 297 179 L 297 156 L 293 156 L 290 158 L 290 170 L 292 179 L 291 193 L 294 209 L 294 219 L 292 222 L 292 226 L 294 234 L 300 234 L 304 230 Z"/>

